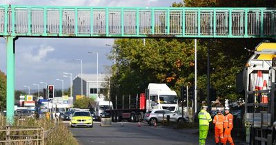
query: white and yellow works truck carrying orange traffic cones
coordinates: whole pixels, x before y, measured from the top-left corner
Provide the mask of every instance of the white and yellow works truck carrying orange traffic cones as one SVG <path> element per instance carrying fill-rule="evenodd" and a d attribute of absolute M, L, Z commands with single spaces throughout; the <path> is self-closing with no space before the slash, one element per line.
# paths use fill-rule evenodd
<path fill-rule="evenodd" d="M 244 71 L 246 142 L 276 144 L 276 43 L 255 48 Z"/>

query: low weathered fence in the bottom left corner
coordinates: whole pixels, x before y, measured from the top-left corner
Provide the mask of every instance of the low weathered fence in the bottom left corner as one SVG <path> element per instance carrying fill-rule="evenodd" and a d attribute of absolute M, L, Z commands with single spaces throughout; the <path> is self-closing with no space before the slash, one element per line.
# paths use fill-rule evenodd
<path fill-rule="evenodd" d="M 0 130 L 0 145 L 43 145 L 44 129 L 27 126 L 6 126 Z"/>

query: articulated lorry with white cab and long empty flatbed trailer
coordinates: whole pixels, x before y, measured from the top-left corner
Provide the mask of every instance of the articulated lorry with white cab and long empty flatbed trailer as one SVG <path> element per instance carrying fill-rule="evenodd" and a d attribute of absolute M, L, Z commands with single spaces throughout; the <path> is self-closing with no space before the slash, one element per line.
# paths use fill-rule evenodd
<path fill-rule="evenodd" d="M 137 102 L 135 108 L 117 108 L 106 110 L 112 122 L 121 122 L 122 119 L 129 122 L 142 121 L 144 114 L 151 109 L 168 109 L 172 112 L 178 110 L 177 93 L 166 84 L 148 84 L 146 93 L 141 93 L 137 96 Z"/>

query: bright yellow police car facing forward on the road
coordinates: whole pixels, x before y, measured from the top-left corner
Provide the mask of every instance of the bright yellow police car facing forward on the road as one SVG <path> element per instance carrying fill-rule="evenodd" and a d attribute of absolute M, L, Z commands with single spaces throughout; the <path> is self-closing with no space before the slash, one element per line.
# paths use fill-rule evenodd
<path fill-rule="evenodd" d="M 70 121 L 70 126 L 88 126 L 93 127 L 93 119 L 88 111 L 75 111 Z"/>

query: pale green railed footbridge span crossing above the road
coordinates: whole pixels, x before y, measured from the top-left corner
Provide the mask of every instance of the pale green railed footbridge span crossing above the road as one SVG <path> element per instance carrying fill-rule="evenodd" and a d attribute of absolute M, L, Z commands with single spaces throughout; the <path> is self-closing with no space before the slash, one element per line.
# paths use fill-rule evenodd
<path fill-rule="evenodd" d="M 0 35 L 16 37 L 275 37 L 267 8 L 0 6 Z"/>

